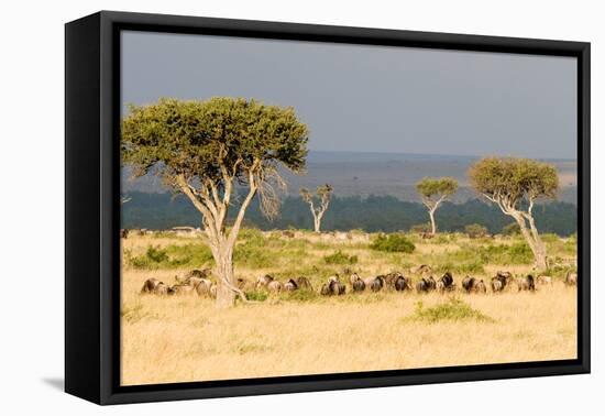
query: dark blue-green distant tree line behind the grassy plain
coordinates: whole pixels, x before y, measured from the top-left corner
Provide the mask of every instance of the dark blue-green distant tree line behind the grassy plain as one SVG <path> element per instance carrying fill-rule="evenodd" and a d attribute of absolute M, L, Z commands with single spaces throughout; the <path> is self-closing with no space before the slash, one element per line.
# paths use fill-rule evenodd
<path fill-rule="evenodd" d="M 129 193 L 131 198 L 122 206 L 123 228 L 147 228 L 164 230 L 176 226 L 199 227 L 200 214 L 182 195 Z M 234 210 L 233 210 L 234 212 Z M 552 201 L 536 204 L 536 222 L 540 232 L 569 236 L 576 232 L 578 211 L 572 204 Z M 229 220 L 233 220 L 230 215 Z M 472 223 L 480 223 L 491 233 L 499 233 L 513 221 L 495 205 L 472 199 L 463 204 L 443 201 L 436 214 L 439 229 L 446 232 L 464 231 Z M 428 223 L 429 214 L 420 202 L 404 201 L 393 196 L 337 197 L 332 196 L 330 209 L 321 222 L 324 231 L 362 229 L 367 232 L 395 232 Z M 273 221 L 261 211 L 258 200 L 254 200 L 246 214 L 244 223 L 262 230 L 309 229 L 314 218 L 309 215 L 308 204 L 300 197 L 287 197 L 283 200 L 280 214 Z"/>

